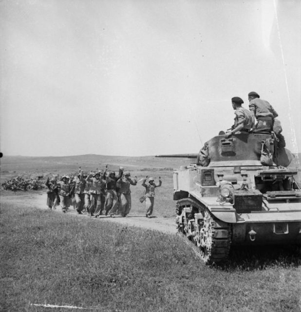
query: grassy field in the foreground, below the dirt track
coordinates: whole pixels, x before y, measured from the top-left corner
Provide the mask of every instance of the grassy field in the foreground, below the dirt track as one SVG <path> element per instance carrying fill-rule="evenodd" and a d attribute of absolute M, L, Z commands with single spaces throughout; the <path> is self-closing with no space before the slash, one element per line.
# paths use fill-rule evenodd
<path fill-rule="evenodd" d="M 301 309 L 295 251 L 234 250 L 210 268 L 179 236 L 9 204 L 0 220 L 0 311 Z M 31 305 L 45 303 L 88 309 Z"/>

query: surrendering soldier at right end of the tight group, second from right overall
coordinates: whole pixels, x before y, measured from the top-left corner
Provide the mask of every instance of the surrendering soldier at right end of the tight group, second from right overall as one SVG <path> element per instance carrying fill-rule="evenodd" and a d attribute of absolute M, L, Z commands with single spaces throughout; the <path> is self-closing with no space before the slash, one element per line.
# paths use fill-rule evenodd
<path fill-rule="evenodd" d="M 130 213 L 132 207 L 132 198 L 131 198 L 131 185 L 137 184 L 137 177 L 134 177 L 134 180 L 131 179 L 131 174 L 126 171 L 124 176 L 117 180 L 117 185 L 119 185 L 120 194 L 120 208 L 119 212 L 122 216 L 126 216 Z M 112 215 L 111 215 L 112 216 Z"/>

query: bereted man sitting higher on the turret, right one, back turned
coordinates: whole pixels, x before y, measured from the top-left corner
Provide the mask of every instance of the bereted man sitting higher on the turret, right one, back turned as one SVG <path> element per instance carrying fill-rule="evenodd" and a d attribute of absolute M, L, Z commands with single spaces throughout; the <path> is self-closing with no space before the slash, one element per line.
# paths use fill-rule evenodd
<path fill-rule="evenodd" d="M 254 91 L 248 94 L 248 99 L 249 109 L 257 120 L 255 131 L 271 132 L 273 130 L 274 118 L 278 117 L 273 106 L 268 101 L 261 99 L 259 94 Z"/>

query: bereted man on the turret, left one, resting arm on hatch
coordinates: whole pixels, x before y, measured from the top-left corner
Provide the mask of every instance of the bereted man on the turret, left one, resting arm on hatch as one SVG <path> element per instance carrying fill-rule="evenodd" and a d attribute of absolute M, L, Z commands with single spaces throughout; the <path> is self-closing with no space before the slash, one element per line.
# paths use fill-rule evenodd
<path fill-rule="evenodd" d="M 234 125 L 231 127 L 231 131 L 226 133 L 226 137 L 230 137 L 239 131 L 249 132 L 254 124 L 254 117 L 251 112 L 246 108 L 242 107 L 244 103 L 242 98 L 234 97 L 231 98 L 232 107 L 235 110 Z"/>

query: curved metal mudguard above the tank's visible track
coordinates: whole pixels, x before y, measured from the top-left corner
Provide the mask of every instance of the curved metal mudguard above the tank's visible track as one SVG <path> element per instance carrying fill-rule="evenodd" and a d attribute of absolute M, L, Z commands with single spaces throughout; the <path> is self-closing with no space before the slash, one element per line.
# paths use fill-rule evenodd
<path fill-rule="evenodd" d="M 201 202 L 207 209 L 217 217 L 219 220 L 227 223 L 237 223 L 236 210 L 231 204 L 225 203 L 224 205 L 217 202 L 217 197 L 202 197 L 197 192 L 189 192 L 196 200 Z"/>

